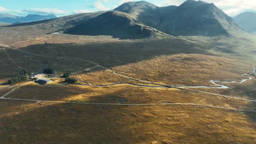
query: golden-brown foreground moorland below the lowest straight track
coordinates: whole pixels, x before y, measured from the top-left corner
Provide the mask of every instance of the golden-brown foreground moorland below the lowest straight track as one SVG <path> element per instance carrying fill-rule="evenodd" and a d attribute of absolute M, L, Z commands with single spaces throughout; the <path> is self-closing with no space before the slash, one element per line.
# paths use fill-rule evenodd
<path fill-rule="evenodd" d="M 0 103 L 2 143 L 254 143 L 256 135 L 245 113 L 200 106 Z"/>

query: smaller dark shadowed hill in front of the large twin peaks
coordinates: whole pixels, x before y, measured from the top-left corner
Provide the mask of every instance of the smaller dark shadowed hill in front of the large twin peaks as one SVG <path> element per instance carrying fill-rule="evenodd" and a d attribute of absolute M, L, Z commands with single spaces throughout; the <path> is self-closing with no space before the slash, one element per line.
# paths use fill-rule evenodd
<path fill-rule="evenodd" d="M 142 25 L 135 17 L 120 11 L 108 11 L 100 16 L 67 29 L 66 33 L 77 35 L 112 35 L 121 39 L 168 37 L 155 28 Z"/>

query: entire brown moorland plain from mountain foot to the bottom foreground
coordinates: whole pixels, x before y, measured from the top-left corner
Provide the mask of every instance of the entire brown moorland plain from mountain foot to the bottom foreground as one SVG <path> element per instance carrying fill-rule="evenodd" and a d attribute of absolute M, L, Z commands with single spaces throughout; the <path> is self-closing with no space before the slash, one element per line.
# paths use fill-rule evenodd
<path fill-rule="evenodd" d="M 3 88 L 6 79 L 21 70 L 17 65 L 32 71 L 53 67 L 58 74 L 96 66 L 68 57 L 88 59 L 127 76 L 167 85 L 211 85 L 209 81 L 213 79 L 241 80 L 241 74 L 251 71 L 253 65 L 246 61 L 245 55 L 240 56 L 245 58 L 244 61 L 237 61 L 230 53 L 214 51 L 216 47 L 205 42 L 112 39 L 97 43 L 97 38 L 91 38 L 92 43 L 85 43 L 85 37 L 48 37 L 14 45 L 42 56 L 5 49 L 8 56 L 0 49 L 3 62 L 0 63 L 0 77 L 5 79 L 1 80 L 1 95 L 15 89 L 7 95 L 8 98 L 114 104 L 194 103 L 255 110 L 252 102 L 172 88 L 40 86 L 33 82 Z M 63 41 L 57 42 L 61 38 Z M 94 85 L 145 84 L 99 67 L 73 76 Z M 255 83 L 248 82 L 245 86 L 241 84 L 241 94 L 253 93 Z M 218 90 L 211 89 L 211 92 Z M 240 94 L 235 96 L 241 97 Z M 254 112 L 188 105 L 111 106 L 3 99 L 0 105 L 0 143 L 254 143 L 256 139 Z"/>

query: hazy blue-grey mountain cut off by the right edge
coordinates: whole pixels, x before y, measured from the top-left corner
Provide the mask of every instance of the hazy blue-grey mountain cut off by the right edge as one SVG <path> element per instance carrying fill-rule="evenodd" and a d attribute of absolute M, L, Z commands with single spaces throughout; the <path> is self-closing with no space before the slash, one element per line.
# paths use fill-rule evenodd
<path fill-rule="evenodd" d="M 256 13 L 245 12 L 233 18 L 238 26 L 245 29 L 248 33 L 256 32 Z"/>

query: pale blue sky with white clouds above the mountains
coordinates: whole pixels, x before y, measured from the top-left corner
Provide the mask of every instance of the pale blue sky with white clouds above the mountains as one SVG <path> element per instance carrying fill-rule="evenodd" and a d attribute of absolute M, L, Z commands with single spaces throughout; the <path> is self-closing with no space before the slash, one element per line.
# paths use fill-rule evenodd
<path fill-rule="evenodd" d="M 41 14 L 65 16 L 93 11 L 113 10 L 119 5 L 137 0 L 1 0 L 0 13 L 18 16 Z M 146 0 L 147 1 L 147 0 Z M 185 0 L 148 0 L 147 2 L 164 7 L 180 5 Z M 204 0 L 214 3 L 229 16 L 235 16 L 244 11 L 256 12 L 256 0 Z"/>

